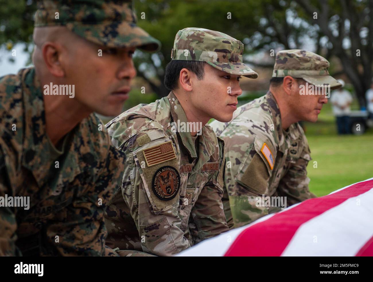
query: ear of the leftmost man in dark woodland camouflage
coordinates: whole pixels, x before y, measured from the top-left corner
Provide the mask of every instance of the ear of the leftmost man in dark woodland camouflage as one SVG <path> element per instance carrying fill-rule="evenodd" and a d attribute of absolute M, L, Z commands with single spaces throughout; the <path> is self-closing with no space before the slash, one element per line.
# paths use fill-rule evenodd
<path fill-rule="evenodd" d="M 43 59 L 49 72 L 56 77 L 65 76 L 65 71 L 60 63 L 61 45 L 55 42 L 46 42 L 42 46 Z"/>

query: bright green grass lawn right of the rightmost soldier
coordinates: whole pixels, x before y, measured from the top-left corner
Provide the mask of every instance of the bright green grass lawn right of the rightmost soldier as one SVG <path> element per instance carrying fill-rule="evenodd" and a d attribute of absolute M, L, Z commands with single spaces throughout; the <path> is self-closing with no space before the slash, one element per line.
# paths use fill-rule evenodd
<path fill-rule="evenodd" d="M 305 127 L 312 157 L 307 167 L 310 190 L 317 196 L 373 177 L 372 128 L 361 136 L 337 135 L 330 104 L 324 105 L 316 123 L 305 123 Z"/>

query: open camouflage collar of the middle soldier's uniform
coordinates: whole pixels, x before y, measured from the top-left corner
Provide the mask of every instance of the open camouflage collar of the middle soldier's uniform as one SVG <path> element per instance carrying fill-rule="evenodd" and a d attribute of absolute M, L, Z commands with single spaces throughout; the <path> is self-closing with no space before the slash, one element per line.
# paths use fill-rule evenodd
<path fill-rule="evenodd" d="M 166 97 L 166 99 L 170 105 L 170 113 L 173 121 L 175 123 L 178 123 L 178 120 L 180 123 L 188 122 L 184 109 L 181 107 L 178 98 L 176 98 L 172 91 Z M 206 164 L 211 155 L 215 152 L 216 147 L 219 146 L 216 135 L 208 124 L 203 125 L 201 130 L 202 133 L 198 138 L 198 161 L 193 169 L 199 169 Z M 179 134 L 184 147 L 186 150 L 188 150 L 191 157 L 196 158 L 197 152 L 195 150 L 195 143 L 190 135 L 190 132 L 177 132 L 177 134 Z"/>

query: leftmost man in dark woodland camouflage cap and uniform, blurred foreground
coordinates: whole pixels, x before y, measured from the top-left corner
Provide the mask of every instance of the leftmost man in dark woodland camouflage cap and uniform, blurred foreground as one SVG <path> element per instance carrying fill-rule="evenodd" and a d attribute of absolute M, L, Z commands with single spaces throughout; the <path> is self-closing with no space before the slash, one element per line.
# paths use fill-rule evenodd
<path fill-rule="evenodd" d="M 131 1 L 39 1 L 33 37 L 35 67 L 0 78 L 0 255 L 102 256 L 124 155 L 93 112 L 121 112 L 132 53 L 159 42 Z"/>

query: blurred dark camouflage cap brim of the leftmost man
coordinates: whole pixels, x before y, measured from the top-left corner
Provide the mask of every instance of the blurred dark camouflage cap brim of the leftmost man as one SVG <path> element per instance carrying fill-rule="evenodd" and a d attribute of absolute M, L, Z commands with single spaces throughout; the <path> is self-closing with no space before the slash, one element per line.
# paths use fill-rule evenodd
<path fill-rule="evenodd" d="M 79 36 L 107 47 L 136 47 L 158 51 L 160 42 L 133 22 L 110 22 L 95 25 L 67 23 L 66 27 Z"/>

